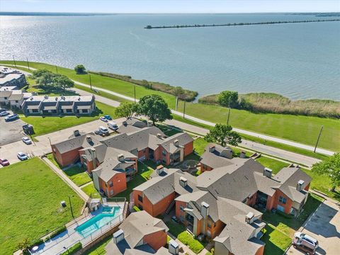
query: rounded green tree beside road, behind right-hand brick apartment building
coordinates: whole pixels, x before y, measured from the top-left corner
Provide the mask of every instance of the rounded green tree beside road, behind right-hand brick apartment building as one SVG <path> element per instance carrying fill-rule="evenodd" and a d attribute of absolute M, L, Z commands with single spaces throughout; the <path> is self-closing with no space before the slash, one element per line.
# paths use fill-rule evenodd
<path fill-rule="evenodd" d="M 205 135 L 204 140 L 207 142 L 216 142 L 225 147 L 225 145 L 237 146 L 241 142 L 241 137 L 237 132 L 232 131 L 231 125 L 216 124 L 214 128 Z"/>

